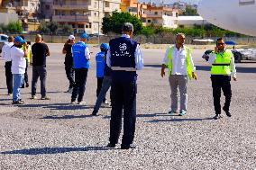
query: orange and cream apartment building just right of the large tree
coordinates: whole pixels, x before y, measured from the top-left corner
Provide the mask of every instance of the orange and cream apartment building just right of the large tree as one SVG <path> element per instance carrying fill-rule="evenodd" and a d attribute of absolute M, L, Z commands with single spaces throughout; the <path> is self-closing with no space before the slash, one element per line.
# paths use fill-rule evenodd
<path fill-rule="evenodd" d="M 138 16 L 144 26 L 178 27 L 178 10 L 163 4 L 157 6 L 153 3 L 139 3 L 137 0 L 122 0 L 121 11 Z"/>

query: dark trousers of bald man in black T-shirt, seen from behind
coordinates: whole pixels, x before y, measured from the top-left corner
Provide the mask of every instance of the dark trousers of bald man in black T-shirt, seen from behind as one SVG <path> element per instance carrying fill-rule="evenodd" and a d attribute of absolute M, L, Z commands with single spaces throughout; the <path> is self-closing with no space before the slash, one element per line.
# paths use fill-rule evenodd
<path fill-rule="evenodd" d="M 32 95 L 36 94 L 36 85 L 38 77 L 40 77 L 41 82 L 41 97 L 46 96 L 46 67 L 43 66 L 33 66 L 32 67 Z"/>

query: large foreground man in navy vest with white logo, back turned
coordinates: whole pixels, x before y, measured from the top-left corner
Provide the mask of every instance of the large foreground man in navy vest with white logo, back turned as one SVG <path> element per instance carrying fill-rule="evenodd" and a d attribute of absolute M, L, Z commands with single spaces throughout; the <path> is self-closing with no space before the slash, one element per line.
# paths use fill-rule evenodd
<path fill-rule="evenodd" d="M 106 63 L 112 69 L 110 138 L 107 147 L 115 148 L 118 142 L 123 114 L 123 139 L 121 149 L 134 148 L 136 121 L 136 70 L 143 67 L 142 52 L 137 41 L 132 40 L 133 24 L 125 22 L 123 35 L 109 41 Z"/>

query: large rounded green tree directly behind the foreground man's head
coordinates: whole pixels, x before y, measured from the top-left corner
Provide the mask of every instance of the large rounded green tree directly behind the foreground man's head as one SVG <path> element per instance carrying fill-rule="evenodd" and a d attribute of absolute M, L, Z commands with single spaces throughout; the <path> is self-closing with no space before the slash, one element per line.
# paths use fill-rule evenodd
<path fill-rule="evenodd" d="M 140 33 L 142 31 L 142 21 L 135 15 L 124 12 L 114 11 L 112 15 L 105 16 L 103 18 L 103 33 L 114 32 L 114 33 L 122 33 L 122 26 L 124 22 L 133 23 L 134 34 Z"/>

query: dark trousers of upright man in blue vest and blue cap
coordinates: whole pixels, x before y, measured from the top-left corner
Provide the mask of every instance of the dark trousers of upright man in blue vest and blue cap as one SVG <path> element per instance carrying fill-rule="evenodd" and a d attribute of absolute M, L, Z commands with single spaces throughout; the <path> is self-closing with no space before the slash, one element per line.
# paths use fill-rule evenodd
<path fill-rule="evenodd" d="M 73 88 L 71 101 L 76 101 L 78 97 L 78 102 L 83 100 L 86 84 L 87 84 L 87 68 L 75 68 L 75 86 Z"/>

